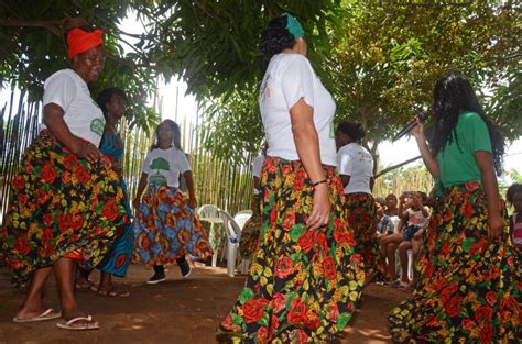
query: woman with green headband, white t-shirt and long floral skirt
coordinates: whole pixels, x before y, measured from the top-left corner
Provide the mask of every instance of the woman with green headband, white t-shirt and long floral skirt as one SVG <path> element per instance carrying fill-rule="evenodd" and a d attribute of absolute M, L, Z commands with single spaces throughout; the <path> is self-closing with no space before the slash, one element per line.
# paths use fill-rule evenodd
<path fill-rule="evenodd" d="M 217 339 L 331 341 L 354 314 L 365 279 L 341 215 L 335 102 L 305 57 L 295 18 L 273 19 L 262 51 L 270 58 L 259 96 L 269 145 L 261 176 L 263 224 L 246 285 Z"/>

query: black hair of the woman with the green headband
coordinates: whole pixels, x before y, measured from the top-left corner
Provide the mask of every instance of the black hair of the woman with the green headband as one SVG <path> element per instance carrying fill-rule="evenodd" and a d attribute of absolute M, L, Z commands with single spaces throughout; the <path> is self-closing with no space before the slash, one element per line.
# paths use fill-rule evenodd
<path fill-rule="evenodd" d="M 267 59 L 294 46 L 295 37 L 286 29 L 286 15 L 278 16 L 272 19 L 263 31 L 261 35 L 261 53 Z"/>

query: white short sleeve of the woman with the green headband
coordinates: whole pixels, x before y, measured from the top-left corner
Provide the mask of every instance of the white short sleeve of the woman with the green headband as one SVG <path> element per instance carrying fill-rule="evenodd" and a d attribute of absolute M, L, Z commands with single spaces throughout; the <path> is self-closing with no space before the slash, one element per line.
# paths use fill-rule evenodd
<path fill-rule="evenodd" d="M 289 109 L 303 98 L 314 107 L 314 71 L 309 62 L 303 56 L 293 58 L 282 74 L 283 97 Z"/>

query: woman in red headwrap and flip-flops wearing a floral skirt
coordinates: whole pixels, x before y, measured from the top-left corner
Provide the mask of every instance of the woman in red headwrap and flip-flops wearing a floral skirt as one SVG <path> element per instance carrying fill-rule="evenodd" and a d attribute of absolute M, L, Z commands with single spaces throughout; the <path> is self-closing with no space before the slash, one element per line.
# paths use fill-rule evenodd
<path fill-rule="evenodd" d="M 46 129 L 25 151 L 13 180 L 2 242 L 14 285 L 29 284 L 14 322 L 62 318 L 57 323 L 62 329 L 99 328 L 76 303 L 75 260 L 96 266 L 111 245 L 117 228 L 127 222 L 120 177 L 97 148 L 105 120 L 87 87 L 104 68 L 101 36 L 101 31 L 91 32 L 88 27 L 68 31 L 70 68 L 45 80 Z M 61 312 L 42 304 L 52 271 Z"/>

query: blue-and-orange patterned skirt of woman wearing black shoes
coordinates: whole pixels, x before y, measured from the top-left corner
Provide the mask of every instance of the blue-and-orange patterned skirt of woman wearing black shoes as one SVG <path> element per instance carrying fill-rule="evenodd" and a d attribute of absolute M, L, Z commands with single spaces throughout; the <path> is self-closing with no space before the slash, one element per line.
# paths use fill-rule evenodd
<path fill-rule="evenodd" d="M 188 198 L 177 188 L 150 185 L 134 218 L 133 260 L 171 265 L 191 254 L 202 259 L 213 255 Z"/>

